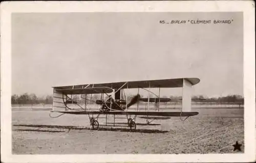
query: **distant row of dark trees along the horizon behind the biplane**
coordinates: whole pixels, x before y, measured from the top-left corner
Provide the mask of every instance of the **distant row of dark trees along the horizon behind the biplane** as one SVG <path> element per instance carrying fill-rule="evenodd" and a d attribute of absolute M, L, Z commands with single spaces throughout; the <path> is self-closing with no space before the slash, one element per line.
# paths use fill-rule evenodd
<path fill-rule="evenodd" d="M 128 94 L 127 101 L 130 101 L 135 95 Z M 142 97 L 142 96 L 141 96 Z M 167 96 L 163 96 L 167 97 Z M 93 101 L 101 99 L 100 94 L 93 94 L 85 96 L 73 95 L 72 99 L 77 103 L 84 103 L 84 98 L 87 98 L 87 103 L 94 103 Z M 182 96 L 169 96 L 172 99 L 172 102 L 180 102 Z M 208 98 L 202 95 L 193 96 L 192 101 L 195 102 L 217 102 L 217 103 L 240 103 L 244 104 L 244 98 L 241 95 L 228 95 L 224 97 L 212 97 Z M 24 93 L 22 95 L 12 95 L 11 97 L 12 104 L 52 104 L 53 97 L 51 95 L 39 96 L 37 97 L 34 93 L 28 94 Z"/>

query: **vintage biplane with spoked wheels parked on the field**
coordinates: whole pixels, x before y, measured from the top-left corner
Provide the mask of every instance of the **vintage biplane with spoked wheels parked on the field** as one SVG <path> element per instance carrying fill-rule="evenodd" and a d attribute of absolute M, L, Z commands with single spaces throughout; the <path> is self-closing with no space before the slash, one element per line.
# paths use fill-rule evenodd
<path fill-rule="evenodd" d="M 98 118 L 100 115 L 114 116 L 114 125 L 116 116 L 122 115 L 127 119 L 127 127 L 132 130 L 136 129 L 136 117 L 145 118 L 148 120 L 168 119 L 170 117 L 190 117 L 198 115 L 198 112 L 191 111 L 191 88 L 200 82 L 199 78 L 173 78 L 173 79 L 159 79 L 159 80 L 141 80 L 131 82 L 116 82 L 116 83 L 102 83 L 102 84 L 83 84 L 75 86 L 61 86 L 53 87 L 53 108 L 51 112 L 74 115 L 88 115 L 90 124 L 93 129 L 98 129 Z M 158 88 L 158 95 L 153 93 L 150 89 Z M 182 88 L 182 108 L 178 112 L 160 111 L 161 102 L 168 102 L 171 99 L 160 97 L 160 88 Z M 128 102 L 127 96 L 123 96 L 124 89 L 137 89 L 138 93 Z M 143 89 L 148 92 L 147 98 L 140 96 L 140 90 Z M 99 94 L 100 99 L 93 101 L 99 108 L 92 110 L 88 106 L 89 96 L 92 94 Z M 150 97 L 153 94 L 155 97 Z M 84 106 L 76 101 L 73 101 L 73 95 L 80 95 L 84 99 Z M 139 101 L 147 104 L 144 108 L 140 108 Z M 151 110 L 150 102 L 156 103 L 155 109 Z M 137 108 L 131 110 L 130 107 L 137 103 Z M 78 109 L 71 108 L 69 104 L 75 104 Z M 107 121 L 107 120 L 106 120 Z"/>

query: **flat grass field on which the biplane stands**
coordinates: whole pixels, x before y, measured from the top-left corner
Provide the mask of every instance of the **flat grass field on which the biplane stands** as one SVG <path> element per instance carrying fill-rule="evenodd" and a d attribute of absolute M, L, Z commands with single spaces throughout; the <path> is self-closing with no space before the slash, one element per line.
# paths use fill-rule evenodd
<path fill-rule="evenodd" d="M 91 130 L 87 115 L 50 118 L 49 111 L 12 111 L 13 154 L 177 154 L 234 153 L 238 141 L 244 151 L 243 108 L 193 109 L 199 115 L 184 123 L 180 117 L 153 121 L 137 118 L 131 132 L 126 119 L 115 127 Z M 107 125 L 113 122 L 108 117 Z M 125 127 L 124 127 L 125 126 Z"/>

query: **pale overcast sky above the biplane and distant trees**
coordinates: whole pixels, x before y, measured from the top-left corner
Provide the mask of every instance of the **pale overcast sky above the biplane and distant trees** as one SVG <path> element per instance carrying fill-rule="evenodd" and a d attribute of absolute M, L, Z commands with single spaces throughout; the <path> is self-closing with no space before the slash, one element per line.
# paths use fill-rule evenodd
<path fill-rule="evenodd" d="M 233 21 L 159 23 L 188 19 Z M 12 14 L 12 94 L 179 77 L 201 79 L 194 95 L 243 95 L 242 13 Z"/>

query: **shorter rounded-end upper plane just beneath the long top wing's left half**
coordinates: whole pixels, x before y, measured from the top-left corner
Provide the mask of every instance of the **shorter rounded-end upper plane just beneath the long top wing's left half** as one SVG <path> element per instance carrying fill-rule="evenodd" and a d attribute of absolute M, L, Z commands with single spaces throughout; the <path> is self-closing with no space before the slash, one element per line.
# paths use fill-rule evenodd
<path fill-rule="evenodd" d="M 56 89 L 62 94 L 97 94 L 97 93 L 111 93 L 113 90 L 109 87 L 95 87 L 95 88 L 75 88 L 75 89 Z"/>

